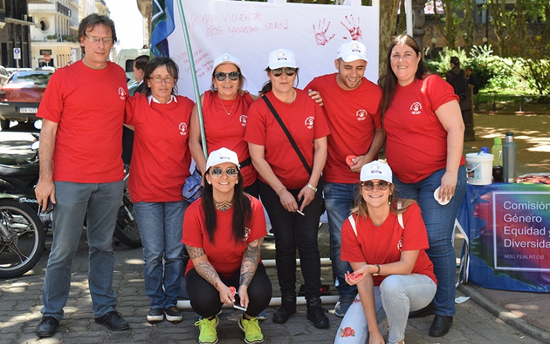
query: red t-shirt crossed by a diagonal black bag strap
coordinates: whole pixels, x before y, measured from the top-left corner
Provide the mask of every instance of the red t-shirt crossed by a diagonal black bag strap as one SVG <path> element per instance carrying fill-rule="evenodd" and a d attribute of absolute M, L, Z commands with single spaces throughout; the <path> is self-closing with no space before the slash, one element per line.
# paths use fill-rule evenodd
<path fill-rule="evenodd" d="M 330 133 L 320 106 L 301 89 L 296 89 L 296 100 L 290 104 L 278 100 L 273 92 L 267 92 L 266 96 L 296 141 L 309 167 L 312 167 L 314 139 L 324 138 Z M 301 189 L 309 181 L 309 173 L 292 148 L 285 131 L 261 98 L 256 99 L 248 110 L 245 141 L 265 147 L 265 160 L 287 189 Z M 261 175 L 259 178 L 265 182 Z"/>

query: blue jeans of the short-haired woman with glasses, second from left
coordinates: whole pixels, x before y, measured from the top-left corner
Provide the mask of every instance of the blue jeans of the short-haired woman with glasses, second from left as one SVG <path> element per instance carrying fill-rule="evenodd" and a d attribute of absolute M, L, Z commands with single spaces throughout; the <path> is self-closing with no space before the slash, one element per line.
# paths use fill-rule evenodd
<path fill-rule="evenodd" d="M 151 299 L 151 308 L 168 308 L 177 304 L 184 273 L 181 235 L 187 206 L 184 200 L 137 202 L 133 205 L 142 238 L 145 292 Z"/>

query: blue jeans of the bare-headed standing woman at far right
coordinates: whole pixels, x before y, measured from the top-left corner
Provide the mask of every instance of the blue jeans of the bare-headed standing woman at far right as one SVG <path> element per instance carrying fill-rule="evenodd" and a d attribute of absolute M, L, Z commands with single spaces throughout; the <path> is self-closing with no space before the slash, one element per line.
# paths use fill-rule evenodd
<path fill-rule="evenodd" d="M 394 175 L 395 193 L 400 198 L 412 198 L 418 202 L 422 218 L 428 230 L 430 248 L 426 250 L 434 264 L 437 277 L 435 294 L 435 314 L 454 316 L 454 281 L 456 275 L 456 256 L 452 246 L 454 219 L 466 193 L 466 171 L 460 166 L 454 197 L 442 206 L 434 199 L 434 191 L 441 185 L 445 169 L 435 171 L 417 183 L 404 183 Z"/>

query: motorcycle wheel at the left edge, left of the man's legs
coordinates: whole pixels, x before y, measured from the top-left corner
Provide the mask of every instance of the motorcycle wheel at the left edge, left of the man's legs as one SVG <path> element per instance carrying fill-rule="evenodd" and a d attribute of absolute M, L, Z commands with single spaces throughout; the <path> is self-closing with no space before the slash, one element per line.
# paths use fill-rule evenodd
<path fill-rule="evenodd" d="M 0 278 L 34 268 L 44 250 L 45 233 L 38 215 L 16 200 L 0 200 Z"/>

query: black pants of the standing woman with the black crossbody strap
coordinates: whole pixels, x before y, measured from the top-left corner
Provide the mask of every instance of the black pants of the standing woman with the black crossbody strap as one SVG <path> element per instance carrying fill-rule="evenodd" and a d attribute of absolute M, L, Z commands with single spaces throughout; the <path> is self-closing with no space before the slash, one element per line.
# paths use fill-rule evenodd
<path fill-rule="evenodd" d="M 322 181 L 313 201 L 308 204 L 302 216 L 287 211 L 273 189 L 260 183 L 260 197 L 270 217 L 275 237 L 275 259 L 277 278 L 283 297 L 296 294 L 296 248 L 300 253 L 300 268 L 305 282 L 305 297 L 320 297 L 321 264 L 317 245 L 319 219 L 322 206 Z M 296 201 L 300 189 L 289 190 Z M 298 202 L 300 204 L 300 202 Z"/>

